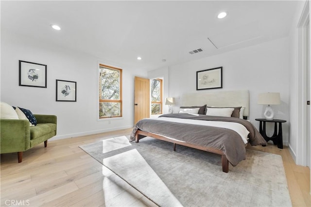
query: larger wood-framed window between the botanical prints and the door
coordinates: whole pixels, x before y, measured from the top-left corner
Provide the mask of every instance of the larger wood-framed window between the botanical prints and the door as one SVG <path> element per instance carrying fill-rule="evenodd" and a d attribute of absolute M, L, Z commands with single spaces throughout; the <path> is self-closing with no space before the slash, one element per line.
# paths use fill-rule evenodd
<path fill-rule="evenodd" d="M 122 117 L 122 69 L 99 65 L 99 118 Z"/>

